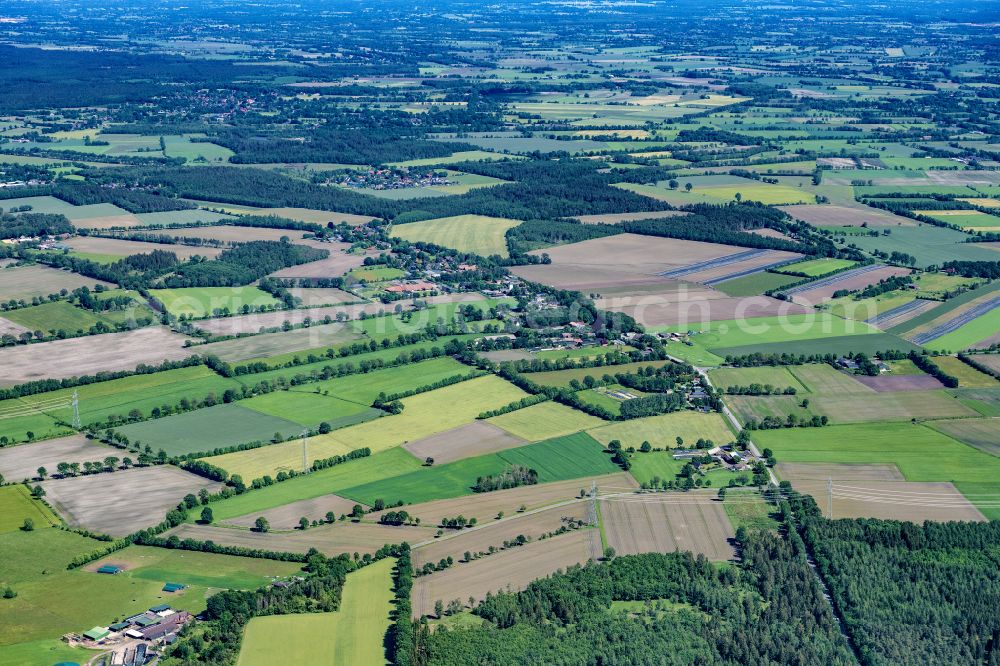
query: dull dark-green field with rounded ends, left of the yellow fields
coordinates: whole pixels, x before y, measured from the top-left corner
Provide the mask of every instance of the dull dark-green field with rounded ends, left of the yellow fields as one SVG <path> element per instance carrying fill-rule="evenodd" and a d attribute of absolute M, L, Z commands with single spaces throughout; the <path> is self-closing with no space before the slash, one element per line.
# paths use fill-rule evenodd
<path fill-rule="evenodd" d="M 216 405 L 162 419 L 132 423 L 118 428 L 133 444 L 147 444 L 168 455 L 213 451 L 253 441 L 270 440 L 275 433 L 294 437 L 302 426 L 236 403 Z"/>

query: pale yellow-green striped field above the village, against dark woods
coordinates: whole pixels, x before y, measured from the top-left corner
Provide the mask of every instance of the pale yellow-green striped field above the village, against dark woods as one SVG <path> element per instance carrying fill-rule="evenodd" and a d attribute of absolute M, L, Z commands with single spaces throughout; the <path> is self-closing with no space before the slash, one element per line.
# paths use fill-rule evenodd
<path fill-rule="evenodd" d="M 436 220 L 399 224 L 392 228 L 392 235 L 411 243 L 434 243 L 459 252 L 470 252 L 484 257 L 508 256 L 508 229 L 521 224 L 518 220 L 486 215 L 456 215 Z"/>

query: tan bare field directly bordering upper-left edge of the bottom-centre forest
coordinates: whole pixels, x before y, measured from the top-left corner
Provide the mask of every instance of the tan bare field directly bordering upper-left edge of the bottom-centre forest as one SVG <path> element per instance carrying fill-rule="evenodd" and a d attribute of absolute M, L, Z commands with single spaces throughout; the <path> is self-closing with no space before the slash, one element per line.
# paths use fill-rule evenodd
<path fill-rule="evenodd" d="M 487 592 L 523 590 L 536 578 L 600 556 L 600 534 L 589 529 L 535 541 L 467 564 L 457 563 L 414 581 L 413 615 L 433 615 L 434 602 L 439 599 L 447 603 L 473 597 L 478 602 Z"/>

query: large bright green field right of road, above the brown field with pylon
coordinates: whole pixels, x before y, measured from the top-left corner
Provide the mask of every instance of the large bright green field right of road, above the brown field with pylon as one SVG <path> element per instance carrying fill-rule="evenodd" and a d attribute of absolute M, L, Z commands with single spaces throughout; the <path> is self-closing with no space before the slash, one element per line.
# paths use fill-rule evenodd
<path fill-rule="evenodd" d="M 754 441 L 781 462 L 891 463 L 908 481 L 951 481 L 962 492 L 963 484 L 1000 491 L 1000 459 L 922 425 L 828 426 L 811 429 L 808 437 L 795 429 L 761 430 Z M 970 493 L 969 499 L 976 504 L 978 498 Z M 983 514 L 1000 518 L 1000 510 L 986 504 Z"/>

